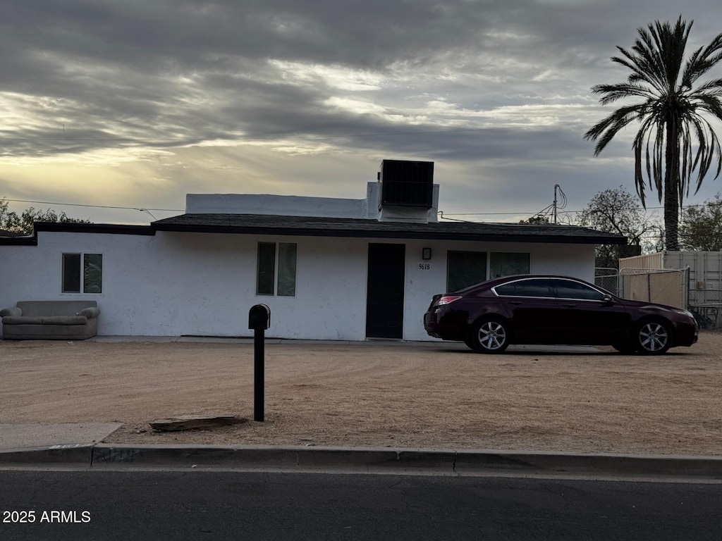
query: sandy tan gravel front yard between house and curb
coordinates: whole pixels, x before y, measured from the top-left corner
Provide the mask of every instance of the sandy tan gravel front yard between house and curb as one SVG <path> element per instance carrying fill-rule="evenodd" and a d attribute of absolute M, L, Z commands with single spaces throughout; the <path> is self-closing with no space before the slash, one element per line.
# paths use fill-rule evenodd
<path fill-rule="evenodd" d="M 454 343 L 0 341 L 0 423 L 123 423 L 106 441 L 722 455 L 722 333 L 664 356 Z M 156 433 L 176 415 L 236 426 Z"/>

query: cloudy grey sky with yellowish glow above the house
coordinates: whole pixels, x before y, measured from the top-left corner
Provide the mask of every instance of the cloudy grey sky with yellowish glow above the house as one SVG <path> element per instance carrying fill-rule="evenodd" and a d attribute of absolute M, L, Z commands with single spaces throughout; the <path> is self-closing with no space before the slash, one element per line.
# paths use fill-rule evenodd
<path fill-rule="evenodd" d="M 0 198 L 148 223 L 186 193 L 360 199 L 382 159 L 418 159 L 445 216 L 518 220 L 555 184 L 580 210 L 634 190 L 631 132 L 583 141 L 612 110 L 590 88 L 680 14 L 692 47 L 722 32 L 719 0 L 6 0 Z"/>

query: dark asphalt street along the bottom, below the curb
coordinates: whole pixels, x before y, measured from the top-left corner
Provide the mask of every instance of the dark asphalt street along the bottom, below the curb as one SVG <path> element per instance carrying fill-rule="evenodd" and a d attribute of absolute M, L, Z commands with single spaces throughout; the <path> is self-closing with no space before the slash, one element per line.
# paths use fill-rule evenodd
<path fill-rule="evenodd" d="M 3 470 L 0 539 L 718 541 L 719 493 L 664 481 Z"/>

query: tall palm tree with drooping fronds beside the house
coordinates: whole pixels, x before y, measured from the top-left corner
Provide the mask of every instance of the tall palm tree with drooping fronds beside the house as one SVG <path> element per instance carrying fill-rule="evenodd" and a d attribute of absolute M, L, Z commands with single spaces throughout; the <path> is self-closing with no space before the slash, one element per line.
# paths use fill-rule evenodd
<path fill-rule="evenodd" d="M 667 250 L 678 250 L 679 207 L 690 193 L 696 172 L 696 189 L 715 163 L 722 171 L 720 142 L 710 120 L 722 120 L 722 79 L 693 85 L 722 60 L 722 34 L 706 47 L 700 47 L 684 61 L 684 49 L 692 22 L 680 16 L 669 22 L 654 22 L 638 29 L 639 37 L 631 50 L 617 47 L 620 56 L 612 61 L 629 68 L 627 82 L 598 84 L 601 105 L 632 99 L 601 120 L 585 135 L 596 141 L 599 156 L 614 136 L 632 122 L 640 123 L 632 149 L 635 155 L 635 185 L 646 208 L 645 185 L 664 195 L 664 229 Z M 644 167 L 643 167 L 644 163 Z"/>

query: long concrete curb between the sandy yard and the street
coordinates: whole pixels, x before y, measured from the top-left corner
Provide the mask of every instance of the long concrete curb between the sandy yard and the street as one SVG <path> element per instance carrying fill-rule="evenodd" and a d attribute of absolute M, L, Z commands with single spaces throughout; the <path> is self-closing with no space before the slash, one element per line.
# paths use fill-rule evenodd
<path fill-rule="evenodd" d="M 9 449 L 0 465 L 231 467 L 253 470 L 406 471 L 479 475 L 620 475 L 722 480 L 722 457 L 495 450 L 88 444 Z"/>

